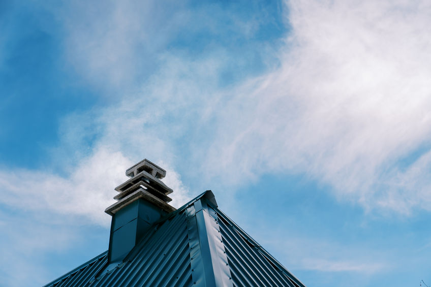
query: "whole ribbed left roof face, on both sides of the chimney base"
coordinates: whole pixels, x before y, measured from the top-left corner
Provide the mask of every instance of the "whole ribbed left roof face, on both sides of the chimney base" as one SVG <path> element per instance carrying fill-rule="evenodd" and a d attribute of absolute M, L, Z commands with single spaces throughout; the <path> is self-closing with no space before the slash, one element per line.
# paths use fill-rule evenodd
<path fill-rule="evenodd" d="M 183 212 L 164 221 L 144 236 L 124 265 L 96 280 L 107 252 L 46 286 L 191 286 L 186 223 Z"/>

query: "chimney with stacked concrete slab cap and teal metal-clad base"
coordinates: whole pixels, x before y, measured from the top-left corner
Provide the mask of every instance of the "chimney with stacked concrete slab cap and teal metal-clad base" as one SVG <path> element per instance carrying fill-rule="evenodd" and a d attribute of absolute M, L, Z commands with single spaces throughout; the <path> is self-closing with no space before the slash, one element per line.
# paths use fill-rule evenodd
<path fill-rule="evenodd" d="M 140 241 L 151 225 L 175 210 L 167 195 L 172 189 L 160 179 L 166 171 L 147 159 L 126 170 L 130 177 L 115 187 L 116 203 L 106 208 L 112 216 L 108 262 L 119 262 Z"/>

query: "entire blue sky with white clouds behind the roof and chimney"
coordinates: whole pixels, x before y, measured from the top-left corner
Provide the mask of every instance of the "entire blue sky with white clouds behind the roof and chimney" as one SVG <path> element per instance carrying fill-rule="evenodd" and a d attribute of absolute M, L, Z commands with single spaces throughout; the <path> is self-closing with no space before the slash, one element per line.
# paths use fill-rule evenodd
<path fill-rule="evenodd" d="M 0 286 L 107 250 L 143 158 L 309 287 L 431 285 L 431 4 L 0 1 Z"/>

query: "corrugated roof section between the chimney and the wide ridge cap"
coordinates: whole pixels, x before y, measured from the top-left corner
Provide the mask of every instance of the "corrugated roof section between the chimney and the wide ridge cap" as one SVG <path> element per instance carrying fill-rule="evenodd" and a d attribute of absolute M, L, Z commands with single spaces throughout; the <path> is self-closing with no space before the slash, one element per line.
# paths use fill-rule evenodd
<path fill-rule="evenodd" d="M 184 213 L 144 236 L 134 258 L 91 286 L 191 286 L 187 222 Z M 134 252 L 134 251 L 132 251 Z"/>

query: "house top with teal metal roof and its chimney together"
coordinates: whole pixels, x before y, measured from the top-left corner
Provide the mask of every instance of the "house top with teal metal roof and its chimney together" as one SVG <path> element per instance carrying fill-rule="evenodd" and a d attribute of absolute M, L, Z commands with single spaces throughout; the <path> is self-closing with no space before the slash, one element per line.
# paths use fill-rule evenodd
<path fill-rule="evenodd" d="M 226 216 L 210 190 L 179 209 L 166 171 L 143 160 L 115 188 L 109 249 L 48 286 L 305 287 Z"/>

